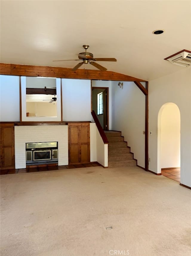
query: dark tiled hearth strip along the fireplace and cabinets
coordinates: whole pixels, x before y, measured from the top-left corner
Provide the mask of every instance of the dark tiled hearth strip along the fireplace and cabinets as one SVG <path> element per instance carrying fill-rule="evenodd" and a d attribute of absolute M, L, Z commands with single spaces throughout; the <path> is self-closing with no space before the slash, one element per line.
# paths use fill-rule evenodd
<path fill-rule="evenodd" d="M 25 173 L 25 172 L 35 172 L 35 171 L 52 171 L 52 170 L 61 170 L 61 169 L 73 169 L 73 168 L 84 168 L 84 167 L 93 167 L 100 166 L 99 163 L 87 163 L 87 164 L 78 164 L 78 165 L 38 165 L 36 167 L 31 167 L 25 169 L 8 169 L 1 170 L 0 174 L 14 174 L 14 173 Z"/>

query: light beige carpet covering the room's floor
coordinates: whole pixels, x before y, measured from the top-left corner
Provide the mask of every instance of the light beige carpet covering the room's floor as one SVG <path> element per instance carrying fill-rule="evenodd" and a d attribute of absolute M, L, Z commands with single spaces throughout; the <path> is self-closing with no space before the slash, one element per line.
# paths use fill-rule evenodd
<path fill-rule="evenodd" d="M 190 189 L 138 167 L 1 175 L 1 256 L 188 256 L 190 219 Z"/>

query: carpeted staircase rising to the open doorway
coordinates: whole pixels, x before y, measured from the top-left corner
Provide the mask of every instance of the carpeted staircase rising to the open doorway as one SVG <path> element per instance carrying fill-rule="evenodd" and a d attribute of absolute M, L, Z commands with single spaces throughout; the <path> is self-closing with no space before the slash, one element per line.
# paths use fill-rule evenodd
<path fill-rule="evenodd" d="M 108 167 L 127 167 L 136 166 L 137 160 L 133 159 L 133 153 L 130 153 L 130 147 L 121 136 L 121 132 L 105 131 L 108 143 Z"/>

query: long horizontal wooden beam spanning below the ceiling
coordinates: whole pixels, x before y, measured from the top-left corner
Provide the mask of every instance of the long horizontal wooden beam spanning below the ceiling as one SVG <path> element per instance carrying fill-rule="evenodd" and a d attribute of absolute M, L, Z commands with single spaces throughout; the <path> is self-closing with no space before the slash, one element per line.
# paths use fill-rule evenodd
<path fill-rule="evenodd" d="M 0 64 L 1 75 L 12 76 L 45 76 L 70 79 L 91 79 L 91 80 L 111 80 L 111 81 L 131 81 L 146 82 L 133 76 L 127 76 L 113 71 L 78 69 L 72 71 L 71 68 L 30 66 L 19 64 Z"/>

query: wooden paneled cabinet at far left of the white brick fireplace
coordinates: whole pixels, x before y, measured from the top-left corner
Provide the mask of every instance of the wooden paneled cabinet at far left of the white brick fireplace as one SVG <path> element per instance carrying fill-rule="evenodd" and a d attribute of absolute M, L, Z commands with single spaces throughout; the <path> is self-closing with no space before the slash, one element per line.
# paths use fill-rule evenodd
<path fill-rule="evenodd" d="M 1 169 L 15 168 L 14 123 L 1 123 Z"/>

